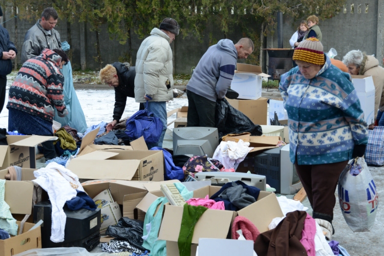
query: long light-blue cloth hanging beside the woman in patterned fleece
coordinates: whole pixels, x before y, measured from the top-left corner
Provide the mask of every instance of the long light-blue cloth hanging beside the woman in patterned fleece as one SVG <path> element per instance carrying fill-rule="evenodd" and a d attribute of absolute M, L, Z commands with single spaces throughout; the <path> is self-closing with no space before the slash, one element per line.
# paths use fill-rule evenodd
<path fill-rule="evenodd" d="M 68 61 L 66 65 L 62 66 L 61 73 L 64 76 L 63 95 L 65 104 L 68 110 L 68 115 L 65 117 L 59 117 L 57 110 L 55 109 L 54 120 L 61 123 L 62 126 L 69 125 L 77 130 L 79 133 L 83 133 L 87 130 L 86 117 L 82 111 L 81 104 L 77 98 L 75 88 L 73 87 L 72 79 L 72 66 L 71 61 Z"/>

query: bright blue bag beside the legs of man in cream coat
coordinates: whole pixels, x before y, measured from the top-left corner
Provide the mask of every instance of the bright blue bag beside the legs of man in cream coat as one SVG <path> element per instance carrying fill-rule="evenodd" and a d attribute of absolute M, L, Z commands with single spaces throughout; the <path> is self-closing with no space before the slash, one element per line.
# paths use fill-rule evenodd
<path fill-rule="evenodd" d="M 163 122 L 160 118 L 155 117 L 152 112 L 148 111 L 148 101 L 144 110 L 139 110 L 133 116 L 126 120 L 125 134 L 132 140 L 136 140 L 141 136 L 144 137 L 145 143 L 157 143 L 163 130 Z"/>

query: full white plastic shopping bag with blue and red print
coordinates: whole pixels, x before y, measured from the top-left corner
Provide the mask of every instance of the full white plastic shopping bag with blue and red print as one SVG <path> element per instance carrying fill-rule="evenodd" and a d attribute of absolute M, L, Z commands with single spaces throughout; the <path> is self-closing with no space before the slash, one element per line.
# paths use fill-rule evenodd
<path fill-rule="evenodd" d="M 353 232 L 369 231 L 376 218 L 378 194 L 364 158 L 348 162 L 338 180 L 338 199 Z"/>

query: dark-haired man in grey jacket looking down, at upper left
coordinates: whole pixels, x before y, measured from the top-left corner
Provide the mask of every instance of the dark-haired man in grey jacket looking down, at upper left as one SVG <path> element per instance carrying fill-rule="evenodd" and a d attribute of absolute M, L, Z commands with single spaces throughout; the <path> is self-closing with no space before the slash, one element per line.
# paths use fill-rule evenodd
<path fill-rule="evenodd" d="M 22 63 L 40 55 L 42 50 L 61 49 L 60 34 L 54 27 L 59 15 L 52 7 L 44 9 L 41 18 L 30 28 L 24 38 Z"/>

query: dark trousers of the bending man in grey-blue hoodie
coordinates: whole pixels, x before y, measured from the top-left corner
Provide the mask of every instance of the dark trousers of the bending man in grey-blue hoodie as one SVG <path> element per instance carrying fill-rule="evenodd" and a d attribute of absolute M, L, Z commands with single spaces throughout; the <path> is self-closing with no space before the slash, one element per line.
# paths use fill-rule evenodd
<path fill-rule="evenodd" d="M 187 126 L 215 127 L 216 102 L 187 90 Z"/>

